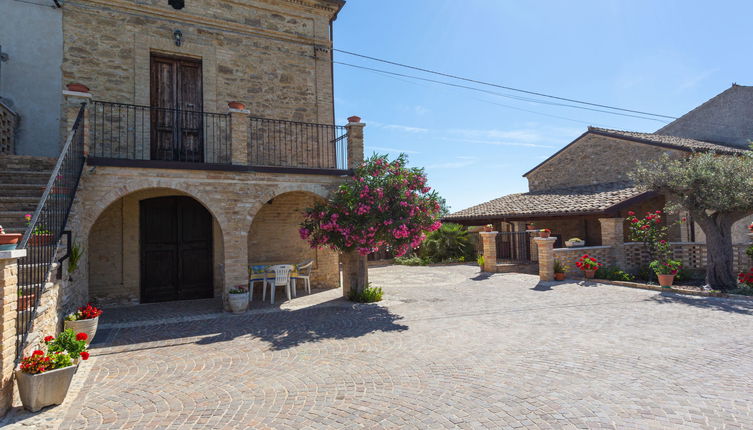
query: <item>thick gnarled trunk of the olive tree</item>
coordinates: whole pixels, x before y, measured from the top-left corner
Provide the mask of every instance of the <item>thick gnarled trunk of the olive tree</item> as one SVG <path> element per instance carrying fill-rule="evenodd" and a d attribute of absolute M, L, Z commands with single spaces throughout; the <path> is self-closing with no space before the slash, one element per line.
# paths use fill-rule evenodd
<path fill-rule="evenodd" d="M 694 217 L 706 234 L 708 265 L 706 283 L 715 290 L 729 291 L 737 287 L 732 267 L 732 224 L 734 217 L 724 214 Z"/>

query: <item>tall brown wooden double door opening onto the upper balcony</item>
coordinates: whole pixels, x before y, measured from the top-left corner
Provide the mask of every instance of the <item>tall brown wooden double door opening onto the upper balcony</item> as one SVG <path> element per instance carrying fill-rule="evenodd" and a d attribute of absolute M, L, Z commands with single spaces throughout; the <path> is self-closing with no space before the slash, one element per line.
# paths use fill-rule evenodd
<path fill-rule="evenodd" d="M 201 60 L 152 54 L 151 159 L 204 161 Z"/>

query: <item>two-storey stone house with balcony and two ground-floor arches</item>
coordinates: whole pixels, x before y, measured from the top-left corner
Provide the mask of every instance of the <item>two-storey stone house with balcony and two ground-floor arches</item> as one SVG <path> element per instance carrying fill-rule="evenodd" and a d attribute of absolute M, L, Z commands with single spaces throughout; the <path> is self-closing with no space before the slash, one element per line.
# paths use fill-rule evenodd
<path fill-rule="evenodd" d="M 4 144 L 0 154 L 0 224 L 26 234 L 19 291 L 36 297 L 13 307 L 36 309 L 17 327 L 20 344 L 89 300 L 223 298 L 256 263 L 311 259 L 314 286 L 340 285 L 339 256 L 297 230 L 303 209 L 363 160 L 360 119 L 334 125 L 332 23 L 344 3 L 59 3 L 62 79 L 48 108 L 61 112 L 64 140 L 38 145 L 63 152 Z M 57 268 L 63 230 L 84 250 L 79 268 L 41 279 L 27 263 Z"/>

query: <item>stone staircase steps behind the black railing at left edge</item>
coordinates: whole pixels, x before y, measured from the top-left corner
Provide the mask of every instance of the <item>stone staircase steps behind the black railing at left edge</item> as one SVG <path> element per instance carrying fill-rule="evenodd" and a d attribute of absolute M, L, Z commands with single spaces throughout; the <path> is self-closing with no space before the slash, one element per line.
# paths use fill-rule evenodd
<path fill-rule="evenodd" d="M 55 161 L 25 155 L 0 156 L 0 225 L 6 233 L 26 230 L 24 215 L 34 213 Z"/>

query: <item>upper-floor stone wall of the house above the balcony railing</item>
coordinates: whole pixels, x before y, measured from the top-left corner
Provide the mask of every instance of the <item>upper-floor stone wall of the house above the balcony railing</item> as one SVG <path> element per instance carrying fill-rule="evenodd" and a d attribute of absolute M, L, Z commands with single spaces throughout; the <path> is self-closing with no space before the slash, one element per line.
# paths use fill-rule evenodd
<path fill-rule="evenodd" d="M 253 116 L 332 123 L 335 8 L 321 0 L 191 0 L 182 10 L 162 0 L 71 2 L 63 80 L 87 85 L 96 100 L 149 105 L 150 53 L 192 57 L 202 60 L 207 112 L 241 101 Z"/>

